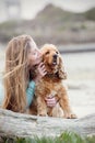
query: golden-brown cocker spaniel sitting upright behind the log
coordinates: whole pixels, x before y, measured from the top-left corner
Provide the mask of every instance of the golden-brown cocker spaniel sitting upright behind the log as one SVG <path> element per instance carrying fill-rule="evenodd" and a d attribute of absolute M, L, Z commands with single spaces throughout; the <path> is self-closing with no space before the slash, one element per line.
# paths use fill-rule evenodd
<path fill-rule="evenodd" d="M 40 52 L 47 74 L 36 85 L 36 102 L 34 101 L 34 103 L 32 103 L 31 109 L 34 111 L 37 106 L 36 112 L 43 117 L 76 118 L 76 116 L 72 113 L 67 89 L 62 82 L 67 79 L 67 74 L 64 73 L 63 62 L 58 48 L 52 44 L 45 44 L 40 48 Z M 45 100 L 49 95 L 57 100 L 57 105 L 52 108 L 47 107 Z M 35 114 L 34 112 L 32 113 Z"/>

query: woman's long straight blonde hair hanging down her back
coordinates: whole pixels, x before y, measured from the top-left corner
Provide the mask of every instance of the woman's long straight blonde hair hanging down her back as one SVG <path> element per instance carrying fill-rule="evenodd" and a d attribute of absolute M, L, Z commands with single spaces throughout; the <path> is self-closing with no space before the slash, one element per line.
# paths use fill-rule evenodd
<path fill-rule="evenodd" d="M 27 55 L 31 48 L 29 35 L 13 37 L 5 52 L 4 101 L 2 108 L 24 112 L 26 87 L 29 80 Z"/>

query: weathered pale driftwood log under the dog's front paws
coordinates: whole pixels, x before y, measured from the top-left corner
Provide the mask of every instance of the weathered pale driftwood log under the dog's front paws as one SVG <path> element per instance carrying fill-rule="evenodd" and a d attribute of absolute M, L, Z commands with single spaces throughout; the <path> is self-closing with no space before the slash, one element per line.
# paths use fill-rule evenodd
<path fill-rule="evenodd" d="M 34 117 L 0 109 L 0 136 L 58 136 L 64 131 L 95 134 L 95 113 L 80 119 Z"/>

